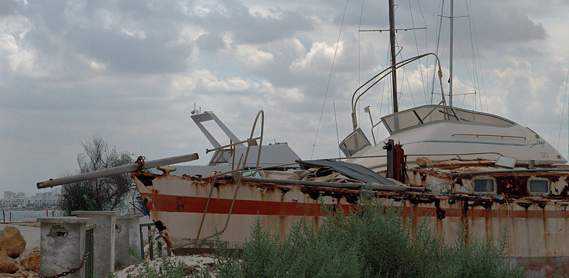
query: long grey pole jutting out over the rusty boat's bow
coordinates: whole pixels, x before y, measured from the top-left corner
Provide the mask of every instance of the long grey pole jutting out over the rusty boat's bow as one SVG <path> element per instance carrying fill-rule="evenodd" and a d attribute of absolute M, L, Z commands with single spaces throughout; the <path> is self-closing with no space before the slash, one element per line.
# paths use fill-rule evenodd
<path fill-rule="evenodd" d="M 156 168 L 159 166 L 182 163 L 196 159 L 199 159 L 197 153 L 192 153 L 191 155 L 172 156 L 163 159 L 145 161 L 144 168 L 145 169 Z M 38 182 L 38 189 L 53 187 L 62 184 L 71 184 L 73 182 L 79 182 L 79 181 L 93 180 L 93 179 L 98 179 L 100 177 L 108 177 L 123 173 L 134 172 L 137 171 L 137 167 L 138 163 L 133 163 L 133 164 L 127 164 L 127 165 L 102 169 L 93 172 L 81 173 L 68 177 L 60 177 L 59 179 L 55 180 L 42 181 Z"/>

